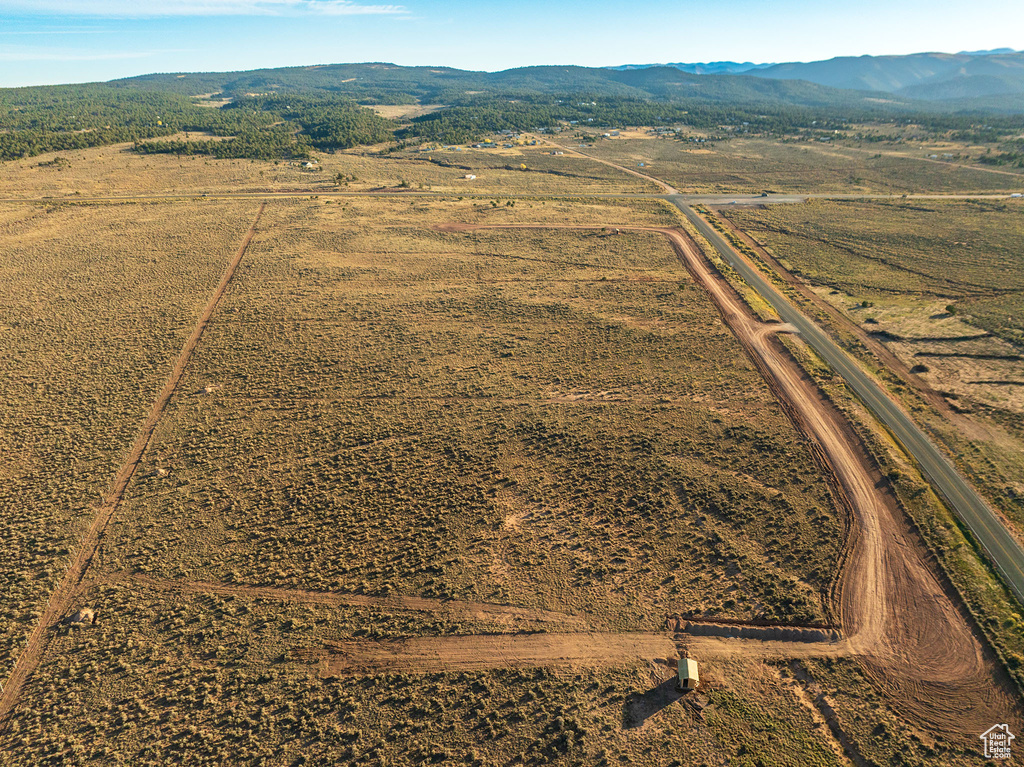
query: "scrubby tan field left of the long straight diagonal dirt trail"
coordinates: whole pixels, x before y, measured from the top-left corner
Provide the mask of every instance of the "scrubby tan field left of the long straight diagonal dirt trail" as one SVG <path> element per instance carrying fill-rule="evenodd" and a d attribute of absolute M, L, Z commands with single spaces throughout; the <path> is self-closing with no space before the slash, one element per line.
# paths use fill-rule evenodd
<path fill-rule="evenodd" d="M 255 211 L 0 208 L 4 676 Z"/>

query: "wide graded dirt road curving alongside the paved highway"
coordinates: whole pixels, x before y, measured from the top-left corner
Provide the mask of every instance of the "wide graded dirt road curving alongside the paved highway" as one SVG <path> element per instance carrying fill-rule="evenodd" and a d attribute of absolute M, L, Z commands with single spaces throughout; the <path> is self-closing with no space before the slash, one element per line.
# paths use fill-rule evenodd
<path fill-rule="evenodd" d="M 535 228 L 565 227 L 542 224 Z M 981 732 L 989 726 L 986 722 L 1017 713 L 1018 704 L 996 682 L 995 668 L 927 563 L 923 544 L 851 425 L 775 339 L 778 332 L 788 329 L 755 318 L 682 230 L 621 228 L 657 231 L 669 239 L 798 428 L 811 440 L 853 517 L 836 592 L 835 607 L 846 637 L 842 642 L 689 636 L 680 641 L 710 655 L 860 656 L 874 682 L 902 710 L 940 731 Z"/>

